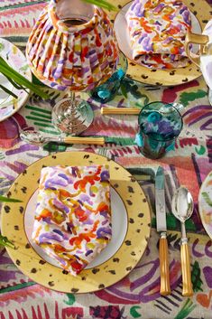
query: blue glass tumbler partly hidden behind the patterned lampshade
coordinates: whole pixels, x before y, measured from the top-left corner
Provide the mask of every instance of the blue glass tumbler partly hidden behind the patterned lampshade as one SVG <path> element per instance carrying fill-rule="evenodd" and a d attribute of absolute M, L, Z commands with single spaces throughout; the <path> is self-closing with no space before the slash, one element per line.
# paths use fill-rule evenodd
<path fill-rule="evenodd" d="M 106 80 L 105 83 L 88 92 L 92 99 L 97 102 L 106 103 L 115 98 L 118 89 L 121 86 L 121 81 L 124 79 L 128 67 L 127 59 L 122 52 L 119 52 L 119 60 L 114 74 Z"/>

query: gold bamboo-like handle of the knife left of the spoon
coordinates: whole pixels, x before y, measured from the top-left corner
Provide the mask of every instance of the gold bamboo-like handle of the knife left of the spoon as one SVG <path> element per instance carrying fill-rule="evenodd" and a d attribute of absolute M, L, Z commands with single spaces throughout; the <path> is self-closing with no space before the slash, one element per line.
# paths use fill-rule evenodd
<path fill-rule="evenodd" d="M 161 272 L 161 296 L 168 296 L 171 294 L 170 286 L 170 269 L 169 269 L 169 255 L 168 244 L 166 237 L 162 237 L 159 241 L 159 258 L 160 258 L 160 272 Z"/>

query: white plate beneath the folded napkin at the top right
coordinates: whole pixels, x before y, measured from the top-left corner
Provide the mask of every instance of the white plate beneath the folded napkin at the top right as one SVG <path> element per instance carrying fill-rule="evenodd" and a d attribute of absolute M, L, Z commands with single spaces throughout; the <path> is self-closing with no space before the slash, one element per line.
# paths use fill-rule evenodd
<path fill-rule="evenodd" d="M 115 35 L 119 45 L 119 49 L 124 53 L 124 55 L 129 60 L 134 61 L 133 51 L 130 45 L 130 35 L 128 32 L 128 27 L 127 27 L 127 23 L 125 19 L 125 14 L 127 10 L 129 9 L 130 5 L 132 5 L 132 2 L 130 2 L 127 5 L 124 5 L 122 10 L 116 15 L 114 28 L 115 28 Z M 192 25 L 192 33 L 201 33 L 201 26 L 198 23 L 198 19 L 192 13 L 191 13 L 191 25 Z M 198 45 L 194 46 L 192 51 L 198 52 Z M 137 61 L 134 61 L 134 63 L 139 64 Z M 143 64 L 142 66 L 145 67 Z"/>

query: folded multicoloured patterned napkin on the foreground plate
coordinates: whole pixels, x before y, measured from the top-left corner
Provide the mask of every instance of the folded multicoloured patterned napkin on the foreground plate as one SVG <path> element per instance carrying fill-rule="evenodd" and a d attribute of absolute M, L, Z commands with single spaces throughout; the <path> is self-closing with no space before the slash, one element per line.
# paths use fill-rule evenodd
<path fill-rule="evenodd" d="M 96 258 L 111 239 L 106 165 L 44 167 L 32 239 L 72 275 Z"/>

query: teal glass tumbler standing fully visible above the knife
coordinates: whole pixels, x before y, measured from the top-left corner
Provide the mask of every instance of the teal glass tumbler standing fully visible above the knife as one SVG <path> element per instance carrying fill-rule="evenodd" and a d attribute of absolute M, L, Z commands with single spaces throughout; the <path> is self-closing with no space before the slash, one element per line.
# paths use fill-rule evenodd
<path fill-rule="evenodd" d="M 139 132 L 135 141 L 145 157 L 157 159 L 174 150 L 183 127 L 177 108 L 164 102 L 147 104 L 138 117 Z"/>

